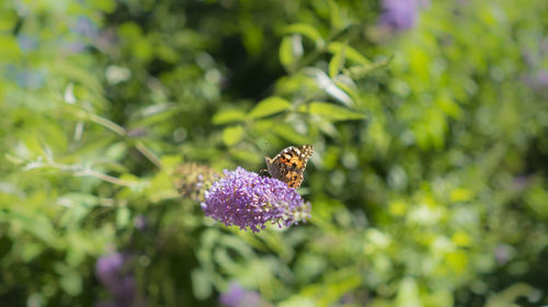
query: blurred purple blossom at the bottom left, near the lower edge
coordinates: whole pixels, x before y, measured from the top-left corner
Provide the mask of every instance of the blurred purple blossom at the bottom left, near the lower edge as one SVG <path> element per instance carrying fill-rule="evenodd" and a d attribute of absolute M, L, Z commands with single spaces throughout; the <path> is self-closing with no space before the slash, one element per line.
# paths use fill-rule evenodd
<path fill-rule="evenodd" d="M 126 255 L 119 252 L 102 255 L 95 264 L 95 274 L 103 286 L 111 293 L 113 306 L 135 306 L 136 284 L 127 272 Z"/>

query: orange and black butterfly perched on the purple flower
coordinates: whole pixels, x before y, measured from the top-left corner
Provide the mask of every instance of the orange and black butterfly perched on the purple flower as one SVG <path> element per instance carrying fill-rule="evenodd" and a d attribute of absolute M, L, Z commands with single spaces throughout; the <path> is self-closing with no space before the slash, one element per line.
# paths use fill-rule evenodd
<path fill-rule="evenodd" d="M 313 146 L 289 146 L 279 151 L 274 158 L 264 157 L 267 173 L 272 178 L 285 182 L 290 187 L 298 189 L 302 183 L 304 172 L 308 159 L 313 154 Z M 264 170 L 262 171 L 264 173 Z"/>

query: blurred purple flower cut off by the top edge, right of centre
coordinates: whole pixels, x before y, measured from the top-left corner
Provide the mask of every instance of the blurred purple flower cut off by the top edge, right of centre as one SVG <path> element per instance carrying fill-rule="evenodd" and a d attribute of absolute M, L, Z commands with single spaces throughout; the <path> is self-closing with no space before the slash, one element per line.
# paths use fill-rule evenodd
<path fill-rule="evenodd" d="M 413 27 L 419 16 L 420 0 L 383 0 L 379 24 L 396 31 Z"/>

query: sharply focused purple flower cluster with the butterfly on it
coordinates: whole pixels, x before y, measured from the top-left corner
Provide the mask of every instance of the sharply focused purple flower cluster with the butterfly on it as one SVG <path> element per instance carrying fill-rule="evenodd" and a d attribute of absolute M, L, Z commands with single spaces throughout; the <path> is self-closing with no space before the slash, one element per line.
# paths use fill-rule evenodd
<path fill-rule="evenodd" d="M 310 203 L 284 182 L 260 177 L 242 168 L 225 170 L 225 177 L 204 193 L 202 209 L 226 226 L 249 227 L 259 232 L 271 221 L 282 227 L 306 221 Z"/>

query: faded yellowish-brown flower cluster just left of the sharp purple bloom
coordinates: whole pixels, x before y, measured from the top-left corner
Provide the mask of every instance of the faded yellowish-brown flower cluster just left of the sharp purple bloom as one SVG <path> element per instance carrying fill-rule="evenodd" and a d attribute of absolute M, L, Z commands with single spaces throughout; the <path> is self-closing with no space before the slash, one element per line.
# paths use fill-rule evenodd
<path fill-rule="evenodd" d="M 197 163 L 183 163 L 175 169 L 173 175 L 178 178 L 175 186 L 179 193 L 195 202 L 203 202 L 204 192 L 220 178 L 217 171 Z"/>

